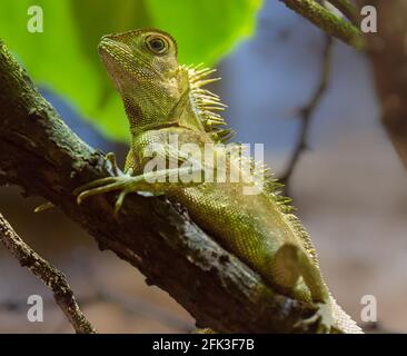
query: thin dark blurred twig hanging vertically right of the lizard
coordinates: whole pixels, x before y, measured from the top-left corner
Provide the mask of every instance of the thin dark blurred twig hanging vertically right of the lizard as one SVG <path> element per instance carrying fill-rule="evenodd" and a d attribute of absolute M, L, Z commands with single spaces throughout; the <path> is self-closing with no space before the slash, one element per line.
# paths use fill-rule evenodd
<path fill-rule="evenodd" d="M 292 176 L 292 172 L 297 166 L 297 162 L 301 156 L 301 154 L 307 149 L 307 140 L 308 140 L 308 132 L 310 121 L 312 116 L 318 108 L 318 105 L 326 92 L 329 82 L 329 75 L 330 75 L 330 60 L 331 60 L 331 52 L 332 52 L 332 38 L 330 36 L 326 36 L 325 46 L 324 46 L 324 59 L 322 59 L 322 70 L 319 80 L 319 85 L 315 90 L 311 99 L 309 102 L 301 108 L 300 110 L 300 130 L 298 135 L 297 144 L 294 148 L 291 158 L 288 161 L 287 168 L 285 172 L 280 177 L 280 181 L 285 185 L 285 194 L 288 195 L 289 190 L 289 182 Z"/>

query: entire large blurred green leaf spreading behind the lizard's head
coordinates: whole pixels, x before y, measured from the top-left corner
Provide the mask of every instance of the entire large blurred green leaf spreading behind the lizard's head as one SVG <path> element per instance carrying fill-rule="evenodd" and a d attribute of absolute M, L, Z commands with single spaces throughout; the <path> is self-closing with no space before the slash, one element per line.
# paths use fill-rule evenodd
<path fill-rule="evenodd" d="M 122 103 L 97 53 L 101 36 L 142 27 L 170 32 L 182 63 L 210 66 L 254 31 L 261 0 L 2 0 L 0 37 L 34 81 L 64 97 L 106 136 L 130 139 Z M 27 10 L 43 9 L 30 33 Z"/>

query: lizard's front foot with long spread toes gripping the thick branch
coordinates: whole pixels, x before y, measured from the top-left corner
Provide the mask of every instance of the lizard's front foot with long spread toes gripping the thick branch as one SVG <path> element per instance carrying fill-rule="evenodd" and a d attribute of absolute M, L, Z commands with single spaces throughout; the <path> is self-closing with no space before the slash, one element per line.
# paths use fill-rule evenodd
<path fill-rule="evenodd" d="M 107 159 L 112 159 L 111 157 L 107 157 Z M 116 160 L 111 161 L 113 170 L 119 174 L 120 171 L 117 169 Z M 127 174 L 121 174 L 118 177 L 107 177 L 101 179 L 96 179 L 91 182 L 88 182 L 83 186 L 73 190 L 73 195 L 77 196 L 77 202 L 81 204 L 85 199 L 109 192 L 115 190 L 120 190 L 118 198 L 115 204 L 115 215 L 117 215 L 125 201 L 126 196 L 129 192 L 136 191 L 135 186 L 139 182 L 140 179 L 137 177 L 131 177 L 132 169 L 129 169 Z"/>

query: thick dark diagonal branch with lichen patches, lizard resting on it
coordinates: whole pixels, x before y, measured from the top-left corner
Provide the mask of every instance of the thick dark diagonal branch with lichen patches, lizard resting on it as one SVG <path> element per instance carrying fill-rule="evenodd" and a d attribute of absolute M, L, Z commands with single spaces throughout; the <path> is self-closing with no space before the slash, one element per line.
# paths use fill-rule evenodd
<path fill-rule="evenodd" d="M 275 294 L 257 275 L 207 236 L 187 212 L 163 198 L 131 195 L 120 215 L 112 196 L 80 207 L 72 190 L 112 175 L 103 156 L 82 142 L 33 88 L 0 44 L 0 177 L 53 202 L 99 243 L 167 290 L 218 332 L 298 332 L 315 306 Z"/>

